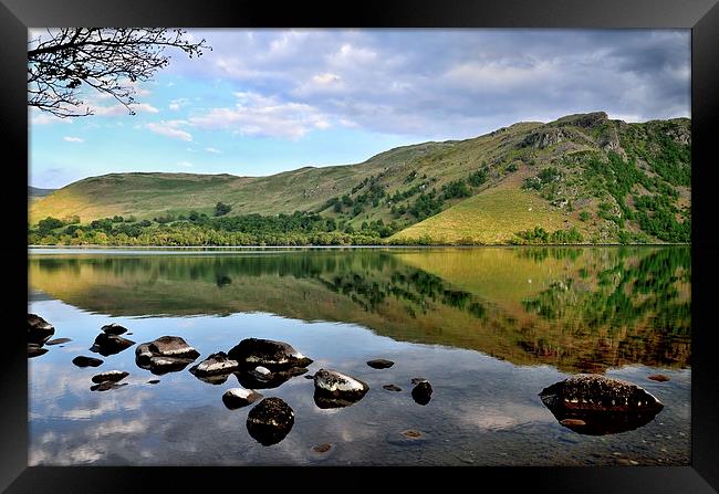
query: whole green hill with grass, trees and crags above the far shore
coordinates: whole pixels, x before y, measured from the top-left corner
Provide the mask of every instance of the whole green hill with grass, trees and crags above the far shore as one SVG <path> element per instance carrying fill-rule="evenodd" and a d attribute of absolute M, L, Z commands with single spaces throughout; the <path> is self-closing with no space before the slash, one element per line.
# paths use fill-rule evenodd
<path fill-rule="evenodd" d="M 31 222 L 211 217 L 221 201 L 229 217 L 305 211 L 395 243 L 688 242 L 690 135 L 688 118 L 591 113 L 269 177 L 111 174 L 33 201 Z"/>

